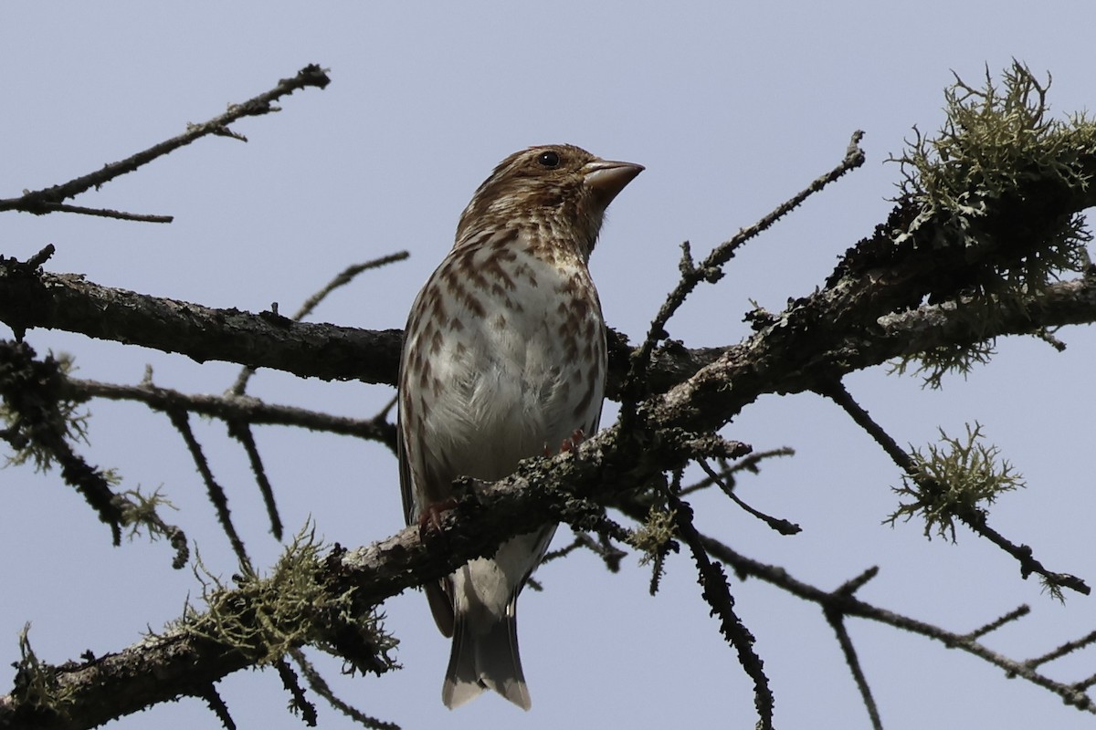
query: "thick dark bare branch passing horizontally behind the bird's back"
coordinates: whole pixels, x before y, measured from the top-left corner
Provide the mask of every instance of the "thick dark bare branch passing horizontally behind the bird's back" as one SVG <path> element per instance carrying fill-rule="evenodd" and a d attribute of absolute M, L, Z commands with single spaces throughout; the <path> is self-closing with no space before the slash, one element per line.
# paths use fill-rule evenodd
<path fill-rule="evenodd" d="M 842 337 L 827 337 L 829 341 L 817 329 L 802 331 L 807 318 L 802 310 L 808 305 L 813 321 L 841 313 L 817 294 L 797 300 L 741 345 L 689 349 L 665 344 L 651 356 L 650 392 L 663 393 L 711 368 L 693 387 L 709 387 L 709 379 L 717 384 L 734 379 L 735 387 L 724 394 L 735 408 L 728 412 L 733 417 L 760 394 L 812 390 L 820 373 L 832 378 L 944 345 L 971 345 L 1096 321 L 1096 278 L 1051 285 L 1039 297 L 1003 305 L 1000 316 L 984 326 L 964 316 L 963 308 L 971 302 L 960 300 L 884 313 Z M 12 258 L 0 258 L 0 321 L 18 335 L 33 327 L 60 329 L 179 352 L 198 362 L 221 360 L 301 378 L 388 385 L 396 383 L 403 337 L 399 329 L 300 323 L 272 312 L 254 314 L 139 294 L 80 275 L 34 270 Z M 630 354 L 627 338 L 610 333 L 610 396 L 619 394 Z M 751 375 L 755 368 L 764 373 Z"/>

